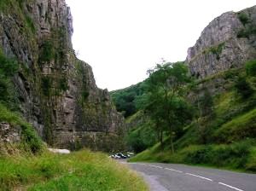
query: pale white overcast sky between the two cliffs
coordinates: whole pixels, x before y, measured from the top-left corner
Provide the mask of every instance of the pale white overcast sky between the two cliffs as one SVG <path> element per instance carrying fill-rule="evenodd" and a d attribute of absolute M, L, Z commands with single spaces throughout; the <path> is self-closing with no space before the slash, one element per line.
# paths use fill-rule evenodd
<path fill-rule="evenodd" d="M 256 0 L 66 0 L 73 49 L 93 69 L 98 87 L 137 84 L 164 58 L 184 61 L 201 31 L 224 12 Z"/>

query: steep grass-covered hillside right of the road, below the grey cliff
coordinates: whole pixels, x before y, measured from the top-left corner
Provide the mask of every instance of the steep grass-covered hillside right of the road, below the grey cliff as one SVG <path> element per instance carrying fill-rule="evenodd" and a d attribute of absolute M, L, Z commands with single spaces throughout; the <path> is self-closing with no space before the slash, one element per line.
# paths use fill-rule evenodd
<path fill-rule="evenodd" d="M 145 149 L 131 161 L 256 171 L 256 61 L 245 66 L 183 86 L 193 106 L 193 119 L 183 125 L 181 134 L 173 132 L 174 152 L 170 134 L 164 132 L 162 144 Z M 157 132 L 155 124 L 152 128 Z M 131 130 L 130 135 L 137 130 L 141 129 Z"/>

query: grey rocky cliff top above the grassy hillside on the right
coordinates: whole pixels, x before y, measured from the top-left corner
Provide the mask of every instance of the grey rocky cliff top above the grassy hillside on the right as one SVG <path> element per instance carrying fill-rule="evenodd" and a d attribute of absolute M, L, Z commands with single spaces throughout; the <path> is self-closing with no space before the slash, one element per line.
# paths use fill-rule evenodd
<path fill-rule="evenodd" d="M 256 58 L 256 6 L 220 15 L 188 49 L 190 73 L 206 78 Z"/>

